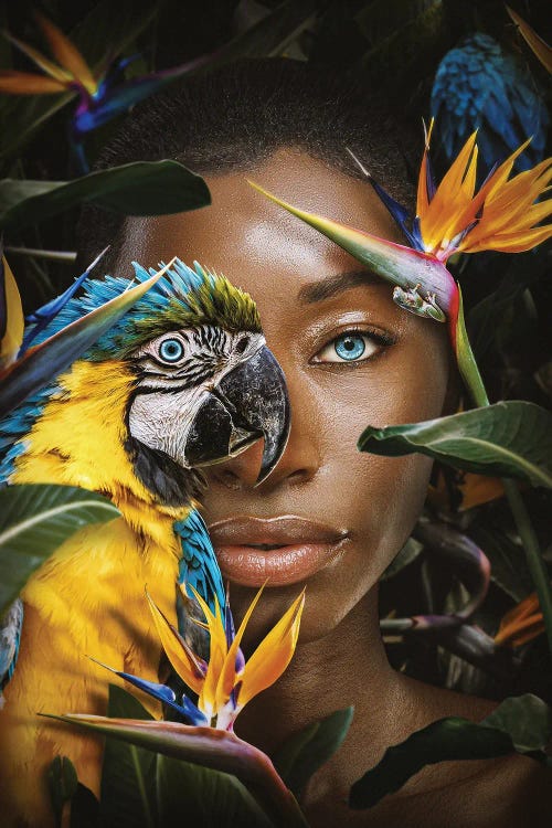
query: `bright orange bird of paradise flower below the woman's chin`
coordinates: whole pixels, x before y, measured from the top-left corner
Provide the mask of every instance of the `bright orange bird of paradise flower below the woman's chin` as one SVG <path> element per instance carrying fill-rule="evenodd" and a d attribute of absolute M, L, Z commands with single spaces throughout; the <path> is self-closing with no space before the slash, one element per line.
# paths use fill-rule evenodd
<path fill-rule="evenodd" d="M 180 584 L 179 587 L 189 601 L 187 585 Z M 188 724 L 83 713 L 47 718 L 110 735 L 206 768 L 233 774 L 250 790 L 269 817 L 270 824 L 286 828 L 306 828 L 308 824 L 297 800 L 276 772 L 270 758 L 263 751 L 236 736 L 233 731 L 234 721 L 245 704 L 273 684 L 289 665 L 299 635 L 305 590 L 245 661 L 241 643 L 263 587 L 251 603 L 237 633 L 234 630 L 227 601 L 221 608 L 215 598 L 215 612 L 212 613 L 201 596 L 190 588 L 205 617 L 204 622 L 195 623 L 209 633 L 209 661 L 192 651 L 151 596 L 148 593 L 146 595 L 167 657 L 176 672 L 197 694 L 197 703 L 185 693 L 177 700 L 174 691 L 167 684 L 147 681 L 138 676 L 115 670 L 108 665 L 102 665 L 176 710 L 189 722 Z"/>

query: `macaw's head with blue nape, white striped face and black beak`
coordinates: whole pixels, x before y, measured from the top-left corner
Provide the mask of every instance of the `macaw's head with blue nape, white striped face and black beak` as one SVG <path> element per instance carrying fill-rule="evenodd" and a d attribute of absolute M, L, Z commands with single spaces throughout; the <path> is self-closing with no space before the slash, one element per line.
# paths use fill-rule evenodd
<path fill-rule="evenodd" d="M 134 267 L 135 279 L 107 276 L 85 283 L 85 294 L 67 302 L 55 327 L 65 327 L 132 282 L 156 273 L 137 263 Z M 51 336 L 55 327 L 51 323 L 41 338 Z M 108 370 L 112 376 L 127 378 L 124 410 L 117 410 L 124 420 L 118 434 L 136 477 L 157 499 L 167 503 L 185 499 L 198 484 L 195 469 L 234 457 L 258 439 L 264 440 L 257 478 L 262 482 L 284 452 L 290 425 L 286 383 L 266 347 L 256 306 L 225 277 L 198 263 L 192 269 L 176 259 L 74 363 L 65 384 L 62 376 L 43 389 L 8 424 L 0 424 L 0 432 L 12 437 L 29 432 L 33 421 L 47 413 L 50 401 L 60 395 L 71 401 L 72 373 L 85 375 L 81 386 L 88 385 L 91 397 L 91 385 L 97 384 L 97 396 Z M 114 385 L 105 382 L 105 417 L 110 411 L 115 416 L 109 406 Z M 18 428 L 18 422 L 24 428 Z M 68 433 L 65 438 L 71 440 Z M 23 439 L 9 455 L 13 460 L 21 453 Z"/>

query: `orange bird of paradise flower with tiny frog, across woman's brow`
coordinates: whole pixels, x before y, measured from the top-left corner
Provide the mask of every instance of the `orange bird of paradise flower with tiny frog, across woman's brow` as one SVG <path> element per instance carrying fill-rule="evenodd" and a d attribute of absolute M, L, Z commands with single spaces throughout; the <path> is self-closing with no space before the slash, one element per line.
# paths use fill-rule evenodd
<path fill-rule="evenodd" d="M 299 210 L 253 181 L 250 183 L 393 284 L 393 300 L 402 308 L 447 322 L 460 374 L 474 399 L 481 401 L 485 394 L 465 329 L 461 291 L 446 263 L 456 253 L 520 253 L 550 238 L 552 224 L 541 226 L 540 222 L 552 213 L 552 200 L 539 199 L 552 180 L 552 158 L 510 178 L 516 159 L 531 140 L 528 139 L 490 170 L 476 192 L 476 131 L 437 185 L 429 156 L 432 131 L 433 120 L 426 131 L 414 217 L 355 159 L 410 247 Z"/>

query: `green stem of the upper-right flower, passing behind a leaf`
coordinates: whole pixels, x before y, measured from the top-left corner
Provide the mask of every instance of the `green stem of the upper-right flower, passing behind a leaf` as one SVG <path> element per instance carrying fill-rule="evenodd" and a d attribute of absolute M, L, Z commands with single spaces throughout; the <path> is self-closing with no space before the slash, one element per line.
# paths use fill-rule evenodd
<path fill-rule="evenodd" d="M 456 357 L 458 361 L 458 370 L 475 404 L 479 407 L 489 405 L 489 397 L 487 396 L 487 391 L 481 374 L 479 373 L 479 368 L 477 367 L 474 351 L 471 350 L 466 331 L 461 294 L 456 329 Z M 539 596 L 539 604 L 544 620 L 549 648 L 552 654 L 552 591 L 550 587 L 546 564 L 542 559 L 539 539 L 537 538 L 531 523 L 531 518 L 523 502 L 523 498 L 521 497 L 518 484 L 510 478 L 501 478 L 501 480 L 526 552 L 527 564 L 537 590 L 537 595 Z"/>

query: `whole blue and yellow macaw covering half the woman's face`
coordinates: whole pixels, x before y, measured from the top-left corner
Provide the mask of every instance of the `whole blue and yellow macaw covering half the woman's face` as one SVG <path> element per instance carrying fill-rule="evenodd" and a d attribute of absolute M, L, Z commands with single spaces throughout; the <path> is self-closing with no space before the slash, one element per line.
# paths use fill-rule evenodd
<path fill-rule="evenodd" d="M 284 450 L 285 380 L 256 307 L 224 277 L 194 267 L 177 259 L 82 359 L 0 423 L 1 479 L 81 486 L 106 495 L 121 513 L 60 546 L 24 587 L 23 613 L 15 604 L 0 630 L 3 825 L 51 824 L 41 776 L 55 755 L 68 756 L 98 793 L 100 742 L 38 714 L 105 714 L 106 672 L 88 656 L 158 681 L 161 645 L 145 586 L 173 625 L 177 581 L 211 606 L 215 596 L 224 605 L 197 510 L 200 467 L 264 438 L 261 481 Z M 136 263 L 135 270 L 139 282 L 150 276 Z M 89 280 L 38 341 L 130 283 Z M 180 613 L 184 637 L 187 617 Z"/>

